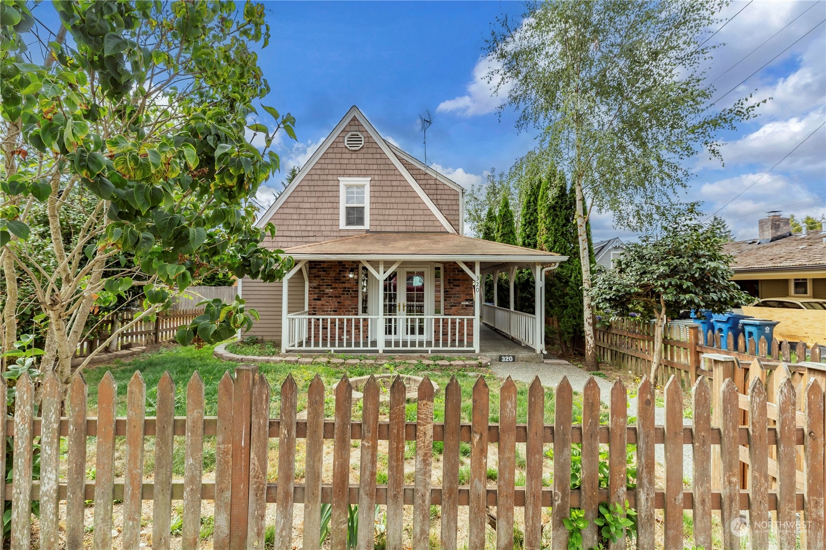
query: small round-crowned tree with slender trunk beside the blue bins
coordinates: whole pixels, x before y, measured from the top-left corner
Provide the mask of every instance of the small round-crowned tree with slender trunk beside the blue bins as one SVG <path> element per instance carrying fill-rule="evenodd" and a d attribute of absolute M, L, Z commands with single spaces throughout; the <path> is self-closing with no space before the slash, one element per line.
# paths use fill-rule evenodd
<path fill-rule="evenodd" d="M 614 268 L 596 273 L 589 295 L 594 306 L 613 318 L 641 316 L 655 321 L 651 378 L 662 362 L 662 335 L 668 318 L 681 311 L 728 311 L 751 300 L 740 290 L 723 253 L 719 227 L 701 225 L 694 206 L 663 225 L 659 237 L 629 243 Z"/>

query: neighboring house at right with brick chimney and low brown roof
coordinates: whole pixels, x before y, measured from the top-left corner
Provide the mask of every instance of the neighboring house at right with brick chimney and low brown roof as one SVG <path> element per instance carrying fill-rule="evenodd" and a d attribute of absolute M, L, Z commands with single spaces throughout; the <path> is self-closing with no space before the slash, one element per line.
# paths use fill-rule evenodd
<path fill-rule="evenodd" d="M 725 243 L 733 280 L 756 298 L 826 298 L 826 232 L 792 234 L 777 212 L 760 220 L 757 239 Z"/>

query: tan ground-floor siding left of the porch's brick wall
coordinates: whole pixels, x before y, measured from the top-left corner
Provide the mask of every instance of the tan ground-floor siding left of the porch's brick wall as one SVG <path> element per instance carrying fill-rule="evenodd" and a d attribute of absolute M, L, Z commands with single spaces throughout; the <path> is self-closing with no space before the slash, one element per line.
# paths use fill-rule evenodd
<path fill-rule="evenodd" d="M 282 282 L 261 282 L 244 278 L 241 297 L 247 307 L 254 307 L 261 320 L 242 336 L 258 336 L 261 339 L 281 339 L 281 289 Z M 296 313 L 304 309 L 304 274 L 299 271 L 290 279 L 290 306 L 287 311 Z"/>

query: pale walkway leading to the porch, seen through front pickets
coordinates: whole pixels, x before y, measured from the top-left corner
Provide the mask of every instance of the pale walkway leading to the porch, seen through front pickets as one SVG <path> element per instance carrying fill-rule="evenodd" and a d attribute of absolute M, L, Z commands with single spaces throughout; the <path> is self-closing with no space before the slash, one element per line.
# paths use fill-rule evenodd
<path fill-rule="evenodd" d="M 588 377 L 591 375 L 588 372 L 576 365 L 567 363 L 561 359 L 554 360 L 553 363 L 491 363 L 491 371 L 496 373 L 497 377 L 511 377 L 520 382 L 534 382 L 534 377 L 539 376 L 539 382 L 543 386 L 555 388 L 559 382 L 562 381 L 563 376 L 567 377 L 571 384 L 573 391 L 582 391 L 585 389 L 585 384 L 588 382 Z M 605 378 L 594 377 L 597 386 L 600 386 L 600 401 L 605 405 L 610 405 L 611 386 L 614 381 L 605 380 Z M 629 399 L 628 415 L 637 415 L 637 400 Z M 654 422 L 657 425 L 665 424 L 666 415 L 665 409 L 657 407 L 654 410 Z M 684 425 L 691 425 L 691 419 L 684 419 Z M 665 448 L 662 444 L 657 444 L 654 450 L 655 458 L 660 464 L 665 463 Z M 691 454 L 691 445 L 683 445 L 682 461 L 683 461 L 683 477 L 691 480 L 693 471 L 693 459 Z"/>

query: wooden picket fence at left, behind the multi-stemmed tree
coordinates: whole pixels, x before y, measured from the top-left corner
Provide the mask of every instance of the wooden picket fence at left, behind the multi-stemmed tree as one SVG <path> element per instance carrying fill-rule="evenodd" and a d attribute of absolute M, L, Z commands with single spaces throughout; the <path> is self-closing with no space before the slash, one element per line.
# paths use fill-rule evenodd
<path fill-rule="evenodd" d="M 202 313 L 203 309 L 170 310 L 159 313 L 155 316 L 155 320 L 149 318 L 140 320 L 128 330 L 118 334 L 115 348 L 126 349 L 158 344 L 174 339 L 179 326 L 189 325 L 190 321 Z M 112 335 L 113 327 L 129 324 L 135 319 L 135 315 L 140 315 L 140 311 L 126 311 L 121 314 L 109 315 L 105 320 L 102 320 L 96 336 L 85 339 L 78 345 L 75 357 L 86 357 L 89 353 L 92 353 L 94 349 L 97 349 Z"/>

